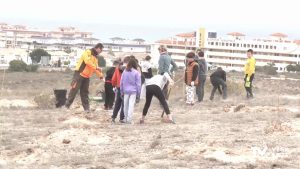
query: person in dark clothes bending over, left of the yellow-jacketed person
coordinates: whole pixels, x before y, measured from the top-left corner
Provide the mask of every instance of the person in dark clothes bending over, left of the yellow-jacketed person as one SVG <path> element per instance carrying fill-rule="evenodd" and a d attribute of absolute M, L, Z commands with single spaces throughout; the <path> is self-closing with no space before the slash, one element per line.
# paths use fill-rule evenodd
<path fill-rule="evenodd" d="M 227 84 L 226 84 L 226 72 L 218 67 L 217 70 L 210 75 L 210 81 L 213 85 L 213 89 L 211 91 L 210 100 L 214 99 L 214 95 L 216 90 L 218 89 L 220 93 L 222 93 L 223 99 L 227 98 Z M 222 86 L 222 91 L 220 91 L 220 86 Z"/>

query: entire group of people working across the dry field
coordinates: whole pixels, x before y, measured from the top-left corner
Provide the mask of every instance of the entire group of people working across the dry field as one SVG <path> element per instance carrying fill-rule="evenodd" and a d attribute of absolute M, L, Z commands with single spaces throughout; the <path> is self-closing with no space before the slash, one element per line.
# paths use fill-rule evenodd
<path fill-rule="evenodd" d="M 86 113 L 90 112 L 89 106 L 89 79 L 93 73 L 96 73 L 100 79 L 103 79 L 102 69 L 98 66 L 97 55 L 103 50 L 101 43 L 94 48 L 86 50 L 80 57 L 71 83 L 65 107 L 68 109 L 77 92 L 80 90 L 81 102 Z M 167 48 L 159 46 L 160 53 L 158 61 L 158 72 L 153 75 L 151 57 L 146 56 L 139 63 L 134 56 L 127 56 L 123 60 L 116 60 L 113 67 L 109 68 L 105 76 L 105 110 L 113 110 L 111 119 L 115 119 L 120 114 L 120 123 L 133 123 L 133 114 L 135 104 L 141 98 L 145 98 L 145 104 L 140 123 L 144 123 L 148 113 L 153 96 L 155 96 L 166 114 L 167 118 L 162 120 L 167 123 L 174 123 L 171 116 L 167 98 L 170 94 L 170 87 L 174 84 L 174 70 L 177 65 L 168 54 Z M 252 98 L 252 81 L 255 73 L 255 59 L 253 50 L 247 51 L 247 63 L 245 64 L 244 86 L 246 88 L 247 98 Z M 204 58 L 204 52 L 198 50 L 189 52 L 185 59 L 184 82 L 186 84 L 186 104 L 194 105 L 195 93 L 198 102 L 203 101 L 204 86 L 207 76 L 207 63 Z M 216 90 L 222 94 L 223 99 L 227 98 L 226 72 L 221 67 L 210 75 L 210 81 L 213 89 L 210 100 L 213 100 Z"/>

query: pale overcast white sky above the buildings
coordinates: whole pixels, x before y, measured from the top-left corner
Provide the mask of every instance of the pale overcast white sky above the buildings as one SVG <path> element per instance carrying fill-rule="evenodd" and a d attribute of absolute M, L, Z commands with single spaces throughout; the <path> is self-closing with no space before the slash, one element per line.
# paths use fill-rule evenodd
<path fill-rule="evenodd" d="M 299 6 L 297 0 L 0 0 L 0 22 L 75 26 L 104 41 L 115 36 L 155 41 L 200 27 L 219 35 L 282 32 L 300 39 Z"/>

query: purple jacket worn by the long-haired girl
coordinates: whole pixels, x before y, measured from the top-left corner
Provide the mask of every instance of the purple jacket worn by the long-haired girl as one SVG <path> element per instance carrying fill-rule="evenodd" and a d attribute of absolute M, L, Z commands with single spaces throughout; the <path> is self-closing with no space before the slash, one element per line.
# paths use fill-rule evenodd
<path fill-rule="evenodd" d="M 141 74 L 133 68 L 130 71 L 125 69 L 121 77 L 120 90 L 121 94 L 140 95 Z"/>

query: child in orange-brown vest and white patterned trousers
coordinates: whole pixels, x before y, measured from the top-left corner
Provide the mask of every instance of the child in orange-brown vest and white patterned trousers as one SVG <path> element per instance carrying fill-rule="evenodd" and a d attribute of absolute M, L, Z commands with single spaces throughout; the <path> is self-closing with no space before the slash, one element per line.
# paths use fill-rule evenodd
<path fill-rule="evenodd" d="M 198 85 L 199 78 L 198 78 L 198 71 L 199 71 L 199 65 L 195 61 L 195 53 L 189 52 L 186 55 L 186 61 L 187 61 L 187 67 L 185 69 L 185 75 L 184 75 L 184 81 L 186 84 L 185 90 L 186 90 L 186 104 L 188 105 L 194 105 L 195 99 L 194 99 L 194 91 L 195 86 Z"/>

